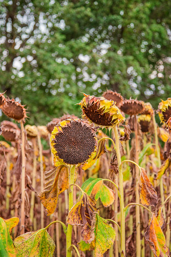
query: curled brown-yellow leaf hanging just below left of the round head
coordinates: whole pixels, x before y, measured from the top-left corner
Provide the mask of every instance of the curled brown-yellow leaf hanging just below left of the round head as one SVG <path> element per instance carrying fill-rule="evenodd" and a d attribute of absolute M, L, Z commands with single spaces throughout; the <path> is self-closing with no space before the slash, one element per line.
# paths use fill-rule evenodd
<path fill-rule="evenodd" d="M 38 197 L 47 210 L 47 215 L 54 213 L 58 196 L 69 186 L 68 168 L 59 165 L 50 171 L 45 172 L 46 187 Z"/>

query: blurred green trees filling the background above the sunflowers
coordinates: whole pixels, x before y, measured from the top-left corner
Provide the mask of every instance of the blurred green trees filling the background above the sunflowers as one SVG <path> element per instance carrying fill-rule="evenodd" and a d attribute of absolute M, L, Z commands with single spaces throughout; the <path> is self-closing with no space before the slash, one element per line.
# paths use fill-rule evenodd
<path fill-rule="evenodd" d="M 80 92 L 117 90 L 157 108 L 170 93 L 171 2 L 0 0 L 0 92 L 29 123 L 80 113 Z M 3 118 L 3 117 L 2 117 Z"/>

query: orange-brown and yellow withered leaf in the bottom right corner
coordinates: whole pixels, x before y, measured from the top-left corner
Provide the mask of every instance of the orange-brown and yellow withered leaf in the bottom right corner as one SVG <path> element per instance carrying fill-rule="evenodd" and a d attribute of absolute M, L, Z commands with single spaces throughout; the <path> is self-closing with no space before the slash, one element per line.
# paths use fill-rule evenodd
<path fill-rule="evenodd" d="M 154 214 L 152 214 L 149 220 L 144 236 L 155 257 L 169 257 L 169 250 L 165 245 L 164 234 Z"/>

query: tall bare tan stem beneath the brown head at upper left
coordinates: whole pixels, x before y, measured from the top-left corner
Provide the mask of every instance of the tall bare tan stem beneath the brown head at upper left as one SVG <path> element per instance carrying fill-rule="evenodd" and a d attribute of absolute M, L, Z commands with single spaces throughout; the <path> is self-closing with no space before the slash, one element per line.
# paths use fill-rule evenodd
<path fill-rule="evenodd" d="M 22 174 L 21 174 L 21 223 L 20 223 L 20 233 L 21 235 L 25 232 L 25 173 L 26 173 L 26 156 L 25 156 L 25 133 L 24 133 L 24 124 L 23 120 L 21 124 L 21 133 L 22 133 Z"/>

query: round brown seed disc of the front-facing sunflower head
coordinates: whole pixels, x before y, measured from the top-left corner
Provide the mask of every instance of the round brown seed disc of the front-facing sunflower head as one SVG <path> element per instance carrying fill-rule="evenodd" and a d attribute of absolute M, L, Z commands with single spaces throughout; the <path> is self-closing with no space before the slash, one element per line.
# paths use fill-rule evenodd
<path fill-rule="evenodd" d="M 66 164 L 80 164 L 87 161 L 96 147 L 96 137 L 91 127 L 83 121 L 71 121 L 62 127 L 54 139 L 57 156 Z"/>

